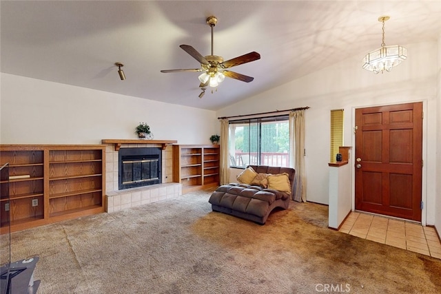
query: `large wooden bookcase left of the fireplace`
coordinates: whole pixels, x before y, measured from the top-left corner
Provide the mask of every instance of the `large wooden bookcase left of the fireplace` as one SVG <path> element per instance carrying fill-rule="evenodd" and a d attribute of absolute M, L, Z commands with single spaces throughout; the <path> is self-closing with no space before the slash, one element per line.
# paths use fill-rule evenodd
<path fill-rule="evenodd" d="M 0 145 L 6 162 L 11 231 L 104 211 L 105 145 Z"/>

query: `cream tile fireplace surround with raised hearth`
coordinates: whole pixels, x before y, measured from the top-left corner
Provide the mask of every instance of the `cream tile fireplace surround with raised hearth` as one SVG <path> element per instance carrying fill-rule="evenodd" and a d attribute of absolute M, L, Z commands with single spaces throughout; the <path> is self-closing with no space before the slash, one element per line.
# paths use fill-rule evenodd
<path fill-rule="evenodd" d="M 182 185 L 172 181 L 173 151 L 172 145 L 142 143 L 119 144 L 105 143 L 105 211 L 108 213 L 136 207 L 156 201 L 177 198 L 182 195 Z M 162 154 L 162 184 L 119 190 L 118 188 L 118 151 L 119 148 L 160 147 Z"/>

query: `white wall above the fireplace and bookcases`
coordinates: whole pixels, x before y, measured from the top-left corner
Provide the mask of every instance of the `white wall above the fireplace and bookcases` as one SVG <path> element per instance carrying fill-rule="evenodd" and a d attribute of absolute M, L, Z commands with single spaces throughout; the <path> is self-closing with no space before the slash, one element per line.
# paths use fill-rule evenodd
<path fill-rule="evenodd" d="M 1 144 L 101 144 L 101 139 L 136 139 L 139 122 L 157 140 L 209 144 L 219 133 L 216 113 L 1 74 Z"/>

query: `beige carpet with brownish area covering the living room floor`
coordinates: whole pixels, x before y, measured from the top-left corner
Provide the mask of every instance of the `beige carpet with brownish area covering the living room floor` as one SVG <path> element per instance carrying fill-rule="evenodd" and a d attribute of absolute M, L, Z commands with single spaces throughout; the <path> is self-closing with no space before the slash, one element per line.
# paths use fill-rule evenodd
<path fill-rule="evenodd" d="M 12 234 L 39 255 L 38 293 L 439 293 L 441 260 L 327 229 L 292 202 L 260 226 L 211 211 L 208 191 Z M 327 291 L 326 291 L 327 290 Z"/>

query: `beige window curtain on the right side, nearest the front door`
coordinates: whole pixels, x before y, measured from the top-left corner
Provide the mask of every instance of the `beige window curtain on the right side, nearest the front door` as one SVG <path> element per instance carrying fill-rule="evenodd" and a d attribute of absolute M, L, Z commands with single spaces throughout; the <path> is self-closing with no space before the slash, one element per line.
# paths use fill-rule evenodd
<path fill-rule="evenodd" d="M 289 138 L 289 166 L 296 169 L 293 200 L 306 202 L 304 109 L 289 112 Z"/>

